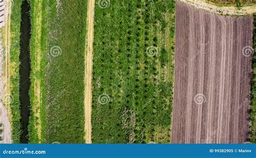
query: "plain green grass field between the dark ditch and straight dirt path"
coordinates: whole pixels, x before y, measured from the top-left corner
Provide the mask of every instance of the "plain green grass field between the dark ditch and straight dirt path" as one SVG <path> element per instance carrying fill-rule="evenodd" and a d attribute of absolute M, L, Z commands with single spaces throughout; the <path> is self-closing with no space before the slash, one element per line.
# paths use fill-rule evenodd
<path fill-rule="evenodd" d="M 42 5 L 42 15 L 34 8 L 38 5 Z M 41 111 L 39 118 L 39 112 L 33 111 L 31 114 L 30 142 L 84 142 L 86 9 L 86 0 L 57 3 L 54 0 L 31 0 L 32 21 L 34 20 L 34 36 L 31 37 L 32 62 L 38 59 L 35 57 L 38 41 L 42 54 L 39 71 L 32 65 L 37 71 L 31 74 L 31 78 L 35 78 L 35 83 L 37 79 L 41 82 Z M 41 25 L 36 23 L 40 16 Z M 39 33 L 41 39 L 36 36 L 39 26 L 42 26 Z M 36 95 L 35 90 L 31 92 L 31 99 L 35 99 Z M 40 121 L 41 127 L 37 126 Z M 42 131 L 41 135 L 36 130 Z"/>

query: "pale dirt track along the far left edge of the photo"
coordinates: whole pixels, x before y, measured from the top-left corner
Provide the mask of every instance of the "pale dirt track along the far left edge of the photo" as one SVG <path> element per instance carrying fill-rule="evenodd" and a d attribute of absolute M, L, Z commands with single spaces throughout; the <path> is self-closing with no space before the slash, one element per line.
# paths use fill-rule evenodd
<path fill-rule="evenodd" d="M 0 143 L 11 143 L 11 109 L 10 109 L 10 16 L 11 16 L 11 1 L 4 1 L 4 33 L 1 35 L 1 59 L 0 59 L 0 123 L 2 141 Z M 3 40 L 3 41 L 2 41 Z M 3 49 L 3 45 L 5 49 Z M 5 56 L 3 58 L 3 56 Z"/>

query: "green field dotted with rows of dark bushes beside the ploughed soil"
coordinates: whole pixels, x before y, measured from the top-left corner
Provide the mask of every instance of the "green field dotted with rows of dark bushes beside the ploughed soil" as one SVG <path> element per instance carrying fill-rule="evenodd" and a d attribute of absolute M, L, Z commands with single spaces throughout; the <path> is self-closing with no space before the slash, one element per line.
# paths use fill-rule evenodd
<path fill-rule="evenodd" d="M 170 142 L 174 4 L 115 0 L 101 9 L 96 3 L 93 143 Z M 107 101 L 99 101 L 101 94 Z"/>

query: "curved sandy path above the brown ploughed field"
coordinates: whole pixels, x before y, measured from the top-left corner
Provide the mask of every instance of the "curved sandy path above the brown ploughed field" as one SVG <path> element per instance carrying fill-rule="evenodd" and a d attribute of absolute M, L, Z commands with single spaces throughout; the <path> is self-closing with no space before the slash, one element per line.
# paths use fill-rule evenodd
<path fill-rule="evenodd" d="M 198 9 L 203 9 L 209 12 L 217 13 L 219 15 L 252 15 L 256 13 L 256 5 L 242 6 L 238 9 L 235 6 L 217 6 L 210 2 L 196 1 L 196 0 L 179 0 L 190 4 Z"/>

